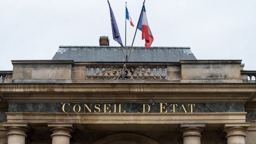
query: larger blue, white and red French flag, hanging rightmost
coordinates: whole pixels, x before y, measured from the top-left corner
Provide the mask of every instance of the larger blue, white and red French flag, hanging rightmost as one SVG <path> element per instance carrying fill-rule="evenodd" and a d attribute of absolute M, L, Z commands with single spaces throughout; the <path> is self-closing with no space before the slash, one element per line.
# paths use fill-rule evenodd
<path fill-rule="evenodd" d="M 142 31 L 142 40 L 145 39 L 145 47 L 149 49 L 151 44 L 153 43 L 153 35 L 149 28 L 148 19 L 146 17 L 146 9 L 145 5 L 143 4 L 142 11 L 140 12 L 139 23 L 137 28 Z"/>

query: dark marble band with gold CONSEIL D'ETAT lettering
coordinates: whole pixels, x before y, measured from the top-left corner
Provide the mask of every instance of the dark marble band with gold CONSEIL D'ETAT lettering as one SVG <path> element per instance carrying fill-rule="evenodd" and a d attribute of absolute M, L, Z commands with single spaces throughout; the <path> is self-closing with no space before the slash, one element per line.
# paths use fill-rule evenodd
<path fill-rule="evenodd" d="M 9 103 L 19 113 L 240 113 L 243 103 Z"/>

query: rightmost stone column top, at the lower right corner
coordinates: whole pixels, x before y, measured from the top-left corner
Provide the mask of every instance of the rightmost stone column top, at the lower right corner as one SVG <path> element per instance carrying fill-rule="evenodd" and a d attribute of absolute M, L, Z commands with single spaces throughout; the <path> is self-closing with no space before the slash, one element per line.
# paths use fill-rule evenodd
<path fill-rule="evenodd" d="M 228 144 L 245 144 L 245 131 L 249 124 L 225 124 L 224 132 L 227 133 L 226 138 Z"/>

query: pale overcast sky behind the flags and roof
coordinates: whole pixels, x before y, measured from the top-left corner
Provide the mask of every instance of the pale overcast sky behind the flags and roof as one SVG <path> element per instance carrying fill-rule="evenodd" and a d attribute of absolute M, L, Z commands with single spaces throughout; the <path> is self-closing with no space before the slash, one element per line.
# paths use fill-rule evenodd
<path fill-rule="evenodd" d="M 136 25 L 143 0 L 126 0 Z M 110 0 L 124 41 L 125 1 Z M 188 46 L 197 59 L 241 59 L 256 70 L 255 0 L 146 0 L 152 46 Z M 135 28 L 127 27 L 127 44 Z M 52 59 L 60 45 L 112 39 L 107 0 L 0 0 L 0 71 L 11 60 Z M 135 46 L 144 46 L 140 31 Z"/>

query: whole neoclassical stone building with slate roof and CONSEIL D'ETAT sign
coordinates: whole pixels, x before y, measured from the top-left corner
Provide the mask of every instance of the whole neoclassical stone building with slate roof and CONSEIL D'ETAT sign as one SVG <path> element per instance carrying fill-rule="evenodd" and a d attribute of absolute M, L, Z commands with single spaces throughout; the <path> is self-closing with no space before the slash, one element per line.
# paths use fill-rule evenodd
<path fill-rule="evenodd" d="M 126 62 L 100 45 L 0 71 L 0 143 L 256 143 L 256 71 L 241 60 L 134 47 Z"/>

